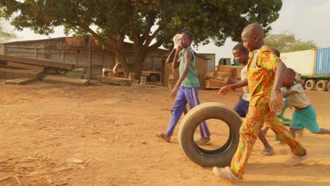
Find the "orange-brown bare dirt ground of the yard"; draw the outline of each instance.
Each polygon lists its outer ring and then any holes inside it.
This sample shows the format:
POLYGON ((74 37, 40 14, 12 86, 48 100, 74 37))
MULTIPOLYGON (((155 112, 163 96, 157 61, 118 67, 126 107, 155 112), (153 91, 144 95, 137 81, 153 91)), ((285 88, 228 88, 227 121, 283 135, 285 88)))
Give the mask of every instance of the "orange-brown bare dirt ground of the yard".
MULTIPOLYGON (((0 185, 231 185, 183 154, 178 126, 171 143, 155 137, 169 123, 169 89, 0 85, 0 185)), ((200 99, 233 106, 239 93, 202 90, 200 99)), ((319 125, 330 128, 330 92, 306 93, 319 125)), ((291 168, 283 164, 290 149, 272 132, 267 139, 276 154, 260 156, 257 141, 236 185, 330 185, 329 135, 305 131, 298 140, 310 159, 291 168)))

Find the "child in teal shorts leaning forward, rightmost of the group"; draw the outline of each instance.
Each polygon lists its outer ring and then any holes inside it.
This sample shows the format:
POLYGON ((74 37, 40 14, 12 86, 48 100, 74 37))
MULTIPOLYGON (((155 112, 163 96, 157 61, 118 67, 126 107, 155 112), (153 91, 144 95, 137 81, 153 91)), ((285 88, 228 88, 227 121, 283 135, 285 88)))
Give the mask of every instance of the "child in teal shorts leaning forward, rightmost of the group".
POLYGON ((289 106, 295 108, 290 124, 293 137, 295 137, 295 132, 302 128, 306 128, 314 134, 330 135, 330 130, 319 128, 315 109, 310 104, 310 100, 307 99, 300 83, 295 82, 295 75, 295 70, 287 68, 286 76, 282 82, 282 86, 286 87, 286 89, 283 89, 283 97, 287 97, 289 106))

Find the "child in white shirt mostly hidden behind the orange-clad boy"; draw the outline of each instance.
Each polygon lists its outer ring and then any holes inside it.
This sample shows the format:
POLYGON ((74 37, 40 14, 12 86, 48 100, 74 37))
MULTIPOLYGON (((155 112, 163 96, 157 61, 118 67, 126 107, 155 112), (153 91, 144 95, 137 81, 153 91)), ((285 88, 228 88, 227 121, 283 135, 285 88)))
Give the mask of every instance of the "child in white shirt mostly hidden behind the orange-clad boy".
MULTIPOLYGON (((243 43, 239 43, 233 47, 233 56, 235 57, 238 63, 244 65, 243 69, 240 71, 240 79, 245 80, 247 78, 247 61, 249 60, 249 51, 247 51, 247 49, 244 48, 243 43)), ((228 80, 228 82, 234 83, 235 80, 228 80)), ((228 85, 228 87, 231 86, 235 86, 235 85, 228 85)), ((250 105, 250 99, 251 99, 251 94, 249 92, 249 87, 245 86, 243 87, 242 97, 240 97, 240 100, 233 108, 242 118, 245 118, 245 116, 247 115, 250 105)), ((264 133, 261 130, 258 134, 258 137, 262 142, 262 144, 264 144, 264 151, 262 151, 262 154, 264 156, 271 156, 272 154, 274 154, 274 149, 271 147, 266 137, 264 137, 264 133)))

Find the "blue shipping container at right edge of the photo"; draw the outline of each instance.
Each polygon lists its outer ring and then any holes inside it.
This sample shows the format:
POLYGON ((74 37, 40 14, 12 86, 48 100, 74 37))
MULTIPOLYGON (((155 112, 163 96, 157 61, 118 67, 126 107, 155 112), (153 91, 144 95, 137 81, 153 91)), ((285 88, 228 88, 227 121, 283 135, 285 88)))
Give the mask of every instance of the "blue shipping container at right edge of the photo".
POLYGON ((317 50, 315 74, 330 75, 330 48, 317 50))

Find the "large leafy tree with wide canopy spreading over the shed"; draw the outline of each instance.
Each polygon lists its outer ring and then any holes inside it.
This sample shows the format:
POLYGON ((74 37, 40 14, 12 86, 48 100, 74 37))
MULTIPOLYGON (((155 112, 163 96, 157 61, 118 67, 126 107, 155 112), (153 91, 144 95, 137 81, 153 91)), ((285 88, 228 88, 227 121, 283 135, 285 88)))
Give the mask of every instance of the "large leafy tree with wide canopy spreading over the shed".
POLYGON ((140 77, 148 52, 163 45, 171 47, 171 38, 190 30, 194 44, 216 46, 226 38, 240 40, 248 23, 260 23, 265 31, 279 18, 281 0, 0 0, 7 18, 18 30, 30 27, 48 35, 54 27, 66 26, 75 35, 93 35, 104 49, 111 51, 128 73, 124 39, 135 49, 135 77, 140 77), (97 30, 92 30, 92 27, 97 30))

